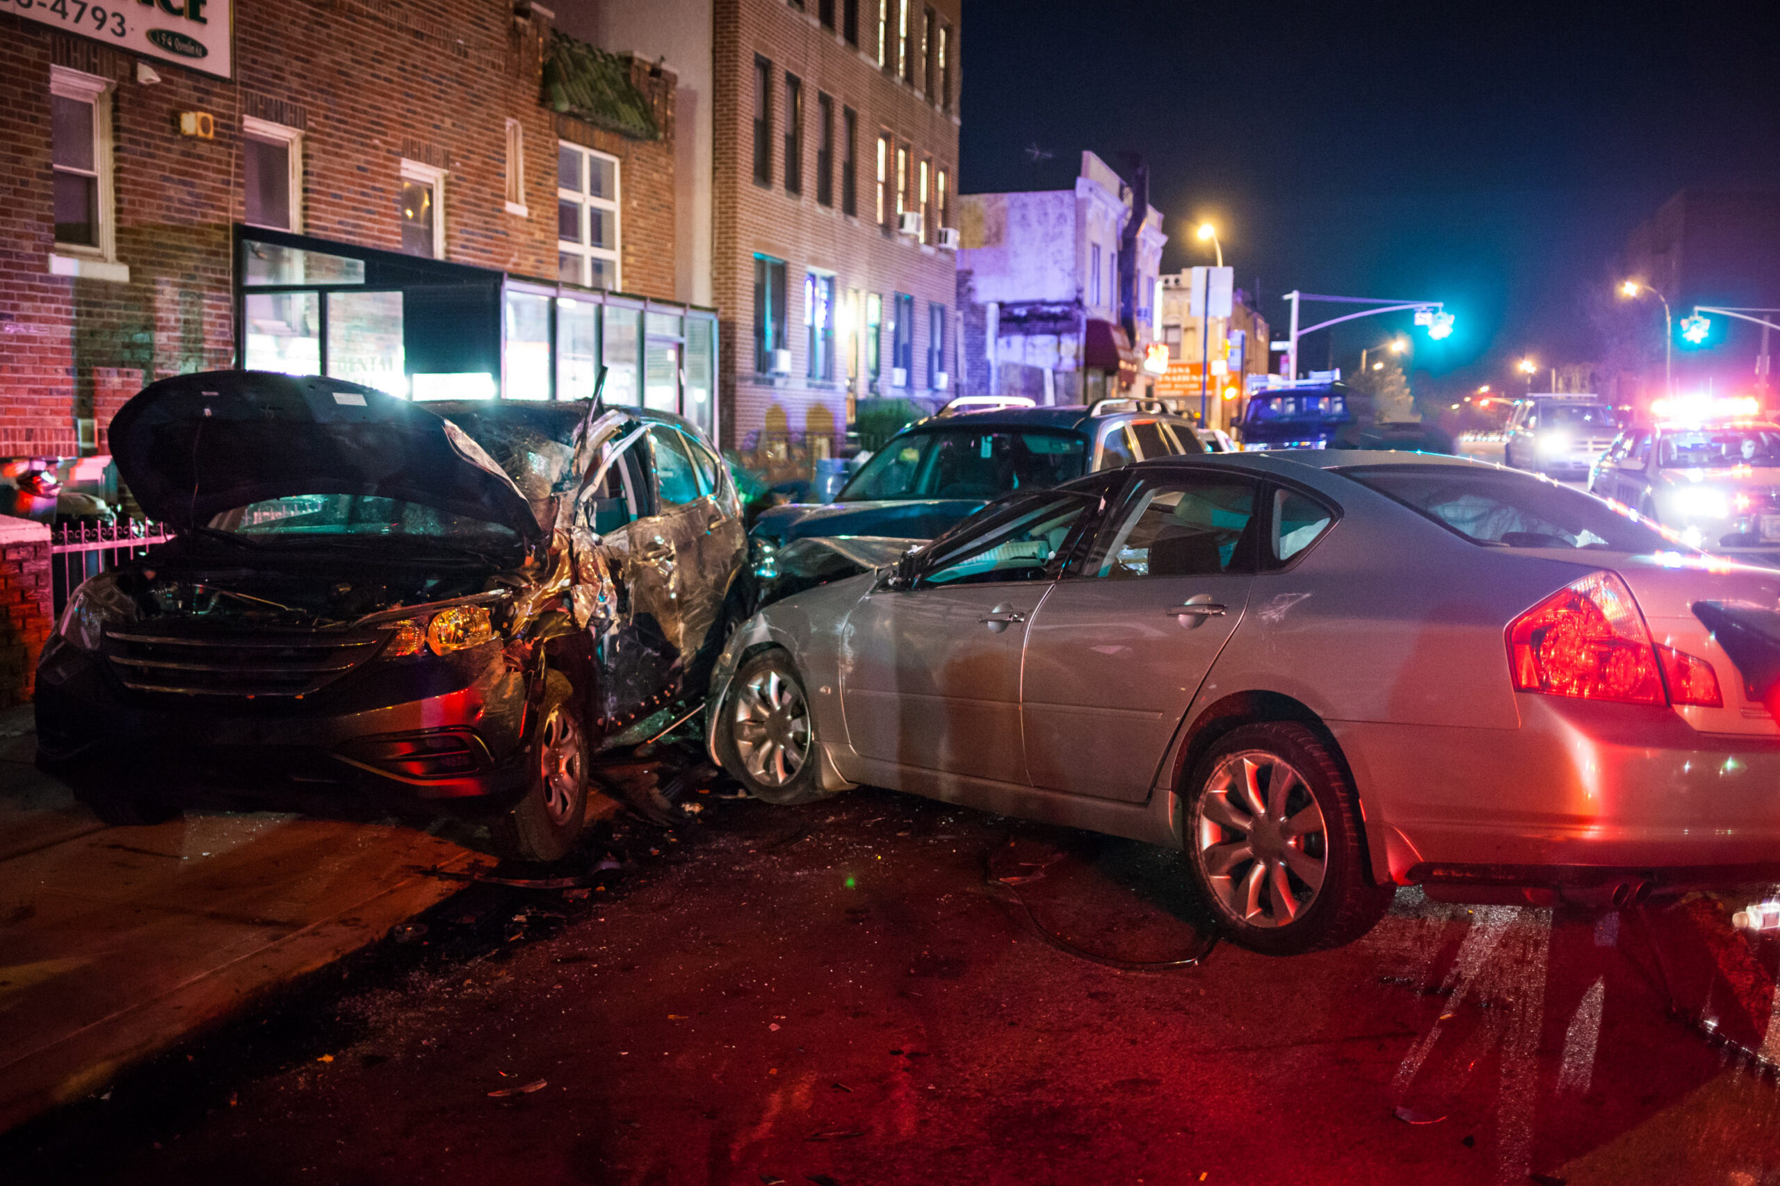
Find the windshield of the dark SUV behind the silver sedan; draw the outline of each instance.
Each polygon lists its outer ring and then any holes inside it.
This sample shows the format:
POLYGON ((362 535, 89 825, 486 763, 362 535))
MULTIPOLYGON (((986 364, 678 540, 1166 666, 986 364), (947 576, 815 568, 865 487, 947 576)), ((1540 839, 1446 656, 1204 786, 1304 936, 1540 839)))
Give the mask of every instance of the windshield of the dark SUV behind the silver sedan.
POLYGON ((942 429, 894 437, 835 496, 837 503, 1000 498, 1082 477, 1088 441, 1066 432, 942 429))

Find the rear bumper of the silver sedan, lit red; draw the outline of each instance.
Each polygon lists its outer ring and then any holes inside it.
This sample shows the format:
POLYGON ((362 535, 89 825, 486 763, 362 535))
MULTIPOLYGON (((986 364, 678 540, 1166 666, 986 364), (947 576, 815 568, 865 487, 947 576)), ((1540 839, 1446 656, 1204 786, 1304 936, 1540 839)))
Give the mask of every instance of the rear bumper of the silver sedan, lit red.
POLYGON ((1330 722, 1396 882, 1780 877, 1780 740, 1524 693, 1520 729, 1330 722))

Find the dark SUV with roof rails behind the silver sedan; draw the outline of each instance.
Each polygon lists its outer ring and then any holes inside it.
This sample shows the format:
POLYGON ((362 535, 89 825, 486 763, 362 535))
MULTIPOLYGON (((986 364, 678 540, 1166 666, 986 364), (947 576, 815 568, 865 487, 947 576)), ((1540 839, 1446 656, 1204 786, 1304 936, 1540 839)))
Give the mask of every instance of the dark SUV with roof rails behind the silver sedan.
POLYGON ((751 539, 762 597, 895 560, 1013 491, 1202 452, 1191 421, 1141 411, 1132 400, 922 420, 890 437, 831 503, 787 503, 760 514, 751 539))

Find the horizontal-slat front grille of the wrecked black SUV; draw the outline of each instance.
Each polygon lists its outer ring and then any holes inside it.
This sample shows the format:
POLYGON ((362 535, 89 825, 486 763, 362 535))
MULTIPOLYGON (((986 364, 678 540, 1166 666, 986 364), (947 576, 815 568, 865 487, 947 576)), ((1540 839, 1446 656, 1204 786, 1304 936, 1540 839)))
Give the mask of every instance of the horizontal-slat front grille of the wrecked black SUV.
POLYGON ((105 631, 105 660, 132 692, 174 695, 288 695, 320 692, 370 656, 384 633, 105 631))

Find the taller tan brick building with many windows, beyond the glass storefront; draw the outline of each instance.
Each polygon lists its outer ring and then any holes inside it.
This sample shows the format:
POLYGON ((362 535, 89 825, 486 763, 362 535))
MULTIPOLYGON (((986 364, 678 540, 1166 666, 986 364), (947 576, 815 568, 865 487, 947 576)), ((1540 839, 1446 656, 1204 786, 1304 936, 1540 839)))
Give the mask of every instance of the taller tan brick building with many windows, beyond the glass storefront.
POLYGON ((951 395, 958 30, 959 0, 714 0, 719 388, 751 464, 951 395))

